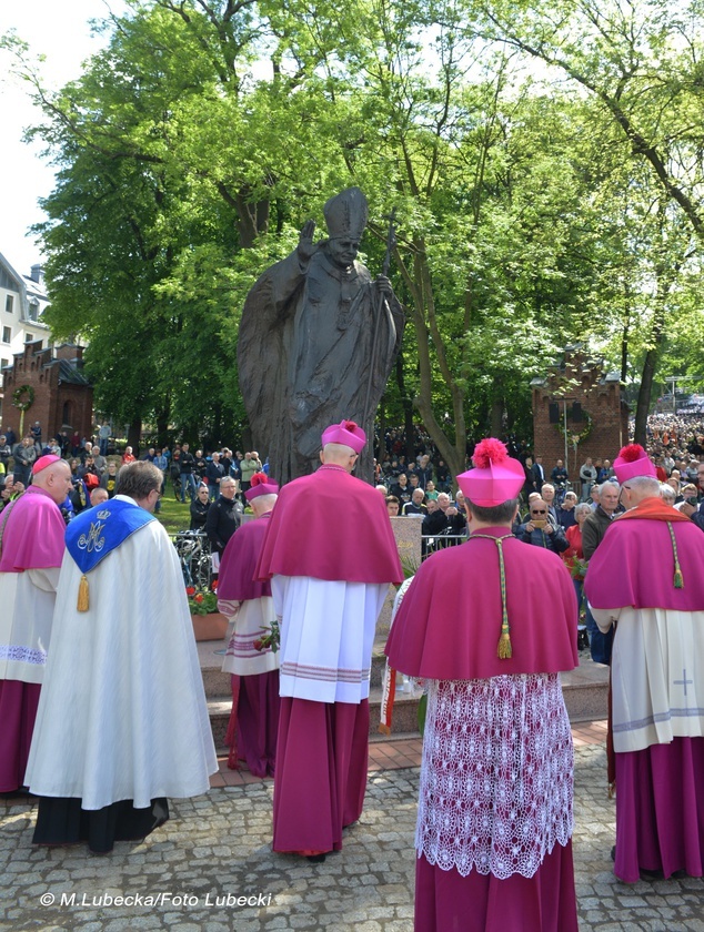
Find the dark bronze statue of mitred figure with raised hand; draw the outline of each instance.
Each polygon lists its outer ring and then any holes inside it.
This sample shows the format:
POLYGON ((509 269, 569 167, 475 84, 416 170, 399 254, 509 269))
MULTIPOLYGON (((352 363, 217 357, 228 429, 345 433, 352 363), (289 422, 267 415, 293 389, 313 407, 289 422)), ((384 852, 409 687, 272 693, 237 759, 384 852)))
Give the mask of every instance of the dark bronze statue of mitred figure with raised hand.
POLYGON ((364 194, 349 188, 323 213, 328 239, 314 243, 309 220, 291 255, 259 277, 240 323, 240 388, 254 445, 280 483, 315 469, 323 429, 343 418, 366 432, 356 474, 372 480, 374 415, 403 333, 388 266, 373 281, 355 261, 364 194))

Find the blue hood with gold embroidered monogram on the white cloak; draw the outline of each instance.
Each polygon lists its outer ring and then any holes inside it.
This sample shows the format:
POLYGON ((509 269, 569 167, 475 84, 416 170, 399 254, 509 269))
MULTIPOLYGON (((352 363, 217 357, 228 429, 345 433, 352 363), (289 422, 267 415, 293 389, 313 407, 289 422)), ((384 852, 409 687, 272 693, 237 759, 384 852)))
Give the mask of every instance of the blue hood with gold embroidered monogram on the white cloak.
POLYGON ((84 575, 135 530, 153 520, 157 520, 154 516, 139 505, 112 498, 73 518, 66 529, 66 546, 84 575))

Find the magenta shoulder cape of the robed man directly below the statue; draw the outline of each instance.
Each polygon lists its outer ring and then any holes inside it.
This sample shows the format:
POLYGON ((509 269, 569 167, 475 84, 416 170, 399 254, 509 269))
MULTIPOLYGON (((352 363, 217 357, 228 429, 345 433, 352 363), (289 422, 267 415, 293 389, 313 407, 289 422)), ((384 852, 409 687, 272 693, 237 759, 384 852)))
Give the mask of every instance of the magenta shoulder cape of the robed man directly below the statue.
POLYGON ((321 466, 285 485, 257 567, 259 579, 274 574, 400 582, 403 571, 383 496, 341 466, 321 466))

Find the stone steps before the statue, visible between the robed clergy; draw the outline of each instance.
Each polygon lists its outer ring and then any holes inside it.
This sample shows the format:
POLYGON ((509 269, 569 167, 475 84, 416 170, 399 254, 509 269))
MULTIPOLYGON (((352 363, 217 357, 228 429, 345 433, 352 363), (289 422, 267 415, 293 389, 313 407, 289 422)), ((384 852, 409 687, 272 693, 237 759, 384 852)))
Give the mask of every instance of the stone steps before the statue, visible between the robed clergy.
MULTIPOLYGON (((224 737, 230 720, 232 698, 230 692, 230 675, 220 669, 224 654, 223 641, 199 641, 198 652, 203 673, 203 683, 208 699, 208 710, 213 730, 215 747, 224 747, 224 737)), ((370 683, 370 738, 384 740, 386 736, 379 733, 379 716, 381 709, 381 678, 385 658, 375 645, 372 657, 370 683)), ((589 651, 580 655, 580 666, 575 670, 562 673, 562 689, 565 706, 572 722, 595 721, 605 719, 607 715, 609 668, 594 663, 589 651)), ((393 725, 390 737, 400 735, 418 735, 418 703, 419 696, 399 691, 393 708, 393 725)))

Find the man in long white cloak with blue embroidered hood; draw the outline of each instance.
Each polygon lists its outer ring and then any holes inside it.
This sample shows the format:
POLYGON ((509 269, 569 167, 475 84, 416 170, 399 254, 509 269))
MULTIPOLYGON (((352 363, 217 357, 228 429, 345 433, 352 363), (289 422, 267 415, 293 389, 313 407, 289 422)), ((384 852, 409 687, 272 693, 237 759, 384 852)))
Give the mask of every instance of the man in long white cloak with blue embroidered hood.
POLYGON ((181 567, 151 514, 160 488, 153 464, 123 466, 115 497, 67 529, 27 768, 36 844, 141 839, 167 797, 207 792, 218 769, 181 567))

